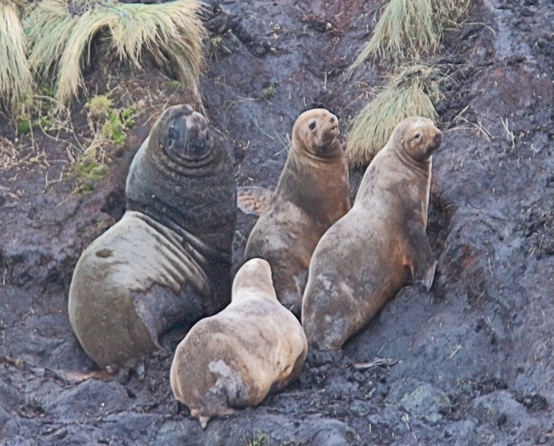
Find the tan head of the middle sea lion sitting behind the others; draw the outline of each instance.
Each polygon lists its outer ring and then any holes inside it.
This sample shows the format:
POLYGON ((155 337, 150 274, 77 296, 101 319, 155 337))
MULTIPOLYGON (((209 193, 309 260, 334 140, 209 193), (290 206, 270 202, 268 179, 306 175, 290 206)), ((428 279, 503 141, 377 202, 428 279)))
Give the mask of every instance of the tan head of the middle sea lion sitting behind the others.
POLYGON ((341 149, 338 134, 337 117, 325 108, 312 108, 295 122, 292 145, 316 156, 334 156, 341 149))

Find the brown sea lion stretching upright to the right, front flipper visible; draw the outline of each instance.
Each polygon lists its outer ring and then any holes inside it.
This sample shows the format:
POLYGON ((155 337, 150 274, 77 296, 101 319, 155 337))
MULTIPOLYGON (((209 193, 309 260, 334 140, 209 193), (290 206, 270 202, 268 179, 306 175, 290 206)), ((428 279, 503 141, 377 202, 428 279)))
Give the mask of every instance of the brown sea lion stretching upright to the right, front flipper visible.
POLYGON ((340 349, 410 277, 430 288, 437 262, 427 209, 441 141, 430 119, 401 121, 367 167, 352 209, 321 237, 302 302, 310 346, 340 349))

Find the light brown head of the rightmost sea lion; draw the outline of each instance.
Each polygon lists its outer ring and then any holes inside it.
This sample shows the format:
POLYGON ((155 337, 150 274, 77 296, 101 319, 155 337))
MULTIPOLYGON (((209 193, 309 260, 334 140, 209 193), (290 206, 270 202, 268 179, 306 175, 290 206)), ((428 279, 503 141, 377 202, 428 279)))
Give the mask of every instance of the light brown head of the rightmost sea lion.
POLYGON ((396 126, 395 147, 417 162, 425 162, 437 152, 442 142, 442 132, 430 119, 412 116, 396 126))

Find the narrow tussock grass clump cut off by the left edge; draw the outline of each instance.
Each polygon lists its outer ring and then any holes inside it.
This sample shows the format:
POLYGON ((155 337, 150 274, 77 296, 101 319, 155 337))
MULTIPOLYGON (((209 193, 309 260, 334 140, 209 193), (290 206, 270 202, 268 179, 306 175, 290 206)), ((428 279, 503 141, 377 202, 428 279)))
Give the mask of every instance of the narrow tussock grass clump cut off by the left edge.
POLYGON ((16 3, 0 0, 0 104, 9 113, 32 95, 33 78, 16 3))

